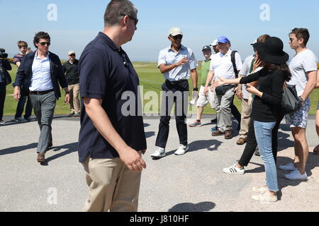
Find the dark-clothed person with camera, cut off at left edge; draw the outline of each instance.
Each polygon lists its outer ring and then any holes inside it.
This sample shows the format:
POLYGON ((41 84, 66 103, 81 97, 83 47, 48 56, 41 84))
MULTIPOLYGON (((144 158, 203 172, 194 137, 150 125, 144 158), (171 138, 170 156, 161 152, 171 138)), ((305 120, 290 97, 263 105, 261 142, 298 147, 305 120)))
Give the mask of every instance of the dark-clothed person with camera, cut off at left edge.
POLYGON ((6 99, 6 85, 11 83, 11 77, 8 71, 10 71, 11 65, 6 59, 7 54, 4 53, 4 49, 0 51, 0 124, 5 124, 6 121, 2 120, 4 116, 4 100, 6 99))

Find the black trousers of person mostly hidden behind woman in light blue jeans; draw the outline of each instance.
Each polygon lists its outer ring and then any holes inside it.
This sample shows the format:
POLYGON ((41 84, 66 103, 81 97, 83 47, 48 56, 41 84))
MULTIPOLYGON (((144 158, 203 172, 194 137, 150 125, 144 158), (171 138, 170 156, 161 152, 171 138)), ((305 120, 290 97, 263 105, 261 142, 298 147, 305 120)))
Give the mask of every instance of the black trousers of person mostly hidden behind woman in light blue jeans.
MULTIPOLYGON (((279 115, 279 118, 276 121, 274 129, 272 129, 272 154, 274 155, 274 160, 277 160, 277 148, 278 148, 278 129, 280 126, 281 120, 284 119, 284 114, 279 115)), ((250 126, 247 134, 247 143, 245 150, 242 153, 242 157, 238 162, 239 165, 247 166, 250 162, 252 155, 254 155, 254 150, 257 148, 256 136, 254 135, 254 120, 250 120, 250 126)))

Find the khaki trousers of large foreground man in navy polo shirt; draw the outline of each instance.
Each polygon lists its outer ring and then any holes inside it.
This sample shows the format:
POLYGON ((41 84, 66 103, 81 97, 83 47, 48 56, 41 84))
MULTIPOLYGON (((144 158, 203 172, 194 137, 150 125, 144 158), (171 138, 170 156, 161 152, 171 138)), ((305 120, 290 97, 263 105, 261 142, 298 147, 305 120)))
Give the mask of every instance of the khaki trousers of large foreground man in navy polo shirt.
POLYGON ((86 212, 137 212, 141 173, 128 169, 119 157, 83 162, 89 195, 86 212))

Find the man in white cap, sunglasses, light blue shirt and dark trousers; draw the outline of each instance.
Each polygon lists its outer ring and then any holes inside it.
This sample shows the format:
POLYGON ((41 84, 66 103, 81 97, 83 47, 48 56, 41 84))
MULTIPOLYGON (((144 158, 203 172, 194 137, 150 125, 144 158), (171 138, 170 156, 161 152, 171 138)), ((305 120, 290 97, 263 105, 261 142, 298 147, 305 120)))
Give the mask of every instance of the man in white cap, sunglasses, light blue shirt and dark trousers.
POLYGON ((189 82, 191 77, 195 95, 198 95, 197 72, 198 66, 194 53, 181 44, 183 33, 180 28, 169 30, 168 40, 171 45, 159 52, 158 67, 164 74, 165 82, 162 85, 162 105, 159 123, 159 132, 155 146, 157 150, 151 155, 153 158, 164 157, 165 147, 169 136, 169 120, 175 102, 175 119, 179 133, 179 148, 175 155, 184 155, 189 149, 187 143, 186 113, 189 102, 189 82), (191 73, 189 73, 191 71, 191 73))

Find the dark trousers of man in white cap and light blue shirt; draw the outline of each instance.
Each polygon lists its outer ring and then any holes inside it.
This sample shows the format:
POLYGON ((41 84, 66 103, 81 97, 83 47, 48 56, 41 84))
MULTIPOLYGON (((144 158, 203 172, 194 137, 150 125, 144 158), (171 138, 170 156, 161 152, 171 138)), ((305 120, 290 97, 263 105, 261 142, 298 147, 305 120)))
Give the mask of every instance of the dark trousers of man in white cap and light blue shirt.
POLYGON ((181 81, 177 84, 165 81, 162 85, 161 117, 159 121, 159 131, 157 133, 155 146, 165 148, 169 136, 169 120, 172 107, 175 104, 175 120, 179 143, 187 145, 187 124, 186 114, 189 104, 189 82, 181 81))

